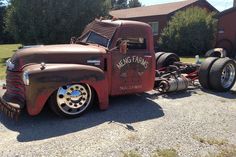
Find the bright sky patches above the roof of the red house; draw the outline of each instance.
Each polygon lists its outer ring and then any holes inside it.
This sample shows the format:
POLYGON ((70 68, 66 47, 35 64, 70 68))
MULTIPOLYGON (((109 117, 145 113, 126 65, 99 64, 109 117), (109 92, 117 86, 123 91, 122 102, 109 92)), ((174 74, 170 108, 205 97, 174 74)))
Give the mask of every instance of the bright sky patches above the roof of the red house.
MULTIPOLYGON (((170 2, 178 2, 181 0, 139 0, 143 5, 154 5, 161 3, 170 3, 170 2)), ((213 5, 219 11, 223 11, 225 9, 231 8, 233 6, 233 0, 208 0, 211 5, 213 5)))

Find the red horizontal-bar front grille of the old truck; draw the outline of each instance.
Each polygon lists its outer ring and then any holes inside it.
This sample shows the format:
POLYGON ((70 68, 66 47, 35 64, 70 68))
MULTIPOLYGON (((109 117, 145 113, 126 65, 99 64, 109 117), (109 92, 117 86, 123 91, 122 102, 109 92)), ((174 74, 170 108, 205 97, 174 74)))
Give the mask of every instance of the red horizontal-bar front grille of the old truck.
POLYGON ((6 95, 25 102, 25 87, 22 81, 22 73, 7 71, 6 95))

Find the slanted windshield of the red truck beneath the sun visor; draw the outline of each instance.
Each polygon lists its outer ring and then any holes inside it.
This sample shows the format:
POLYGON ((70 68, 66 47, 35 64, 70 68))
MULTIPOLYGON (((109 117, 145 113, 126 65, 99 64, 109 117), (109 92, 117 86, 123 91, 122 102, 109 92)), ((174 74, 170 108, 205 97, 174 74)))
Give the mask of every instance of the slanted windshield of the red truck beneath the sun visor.
POLYGON ((82 39, 80 40, 85 43, 92 43, 92 44, 98 44, 104 47, 108 47, 109 39, 96 33, 96 32, 88 32, 82 39))

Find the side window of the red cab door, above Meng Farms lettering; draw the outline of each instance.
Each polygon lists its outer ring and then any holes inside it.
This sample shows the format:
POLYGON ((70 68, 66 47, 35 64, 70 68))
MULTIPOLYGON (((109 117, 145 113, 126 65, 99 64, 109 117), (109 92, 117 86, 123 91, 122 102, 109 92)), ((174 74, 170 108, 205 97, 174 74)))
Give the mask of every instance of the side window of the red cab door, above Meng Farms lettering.
POLYGON ((126 38, 126 39, 118 39, 117 46, 121 43, 121 41, 127 42, 128 50, 143 50, 147 49, 146 39, 145 38, 126 38))

